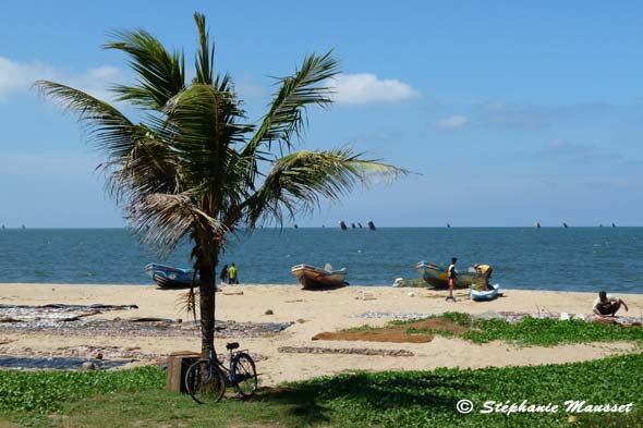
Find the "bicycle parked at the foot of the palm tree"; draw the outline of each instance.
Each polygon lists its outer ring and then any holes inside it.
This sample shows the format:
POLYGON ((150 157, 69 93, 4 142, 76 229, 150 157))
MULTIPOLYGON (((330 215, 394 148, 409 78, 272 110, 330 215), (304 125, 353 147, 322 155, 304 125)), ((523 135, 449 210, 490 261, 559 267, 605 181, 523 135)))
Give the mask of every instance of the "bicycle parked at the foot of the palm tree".
POLYGON ((232 386, 244 399, 257 390, 257 371, 255 362, 247 351, 236 351, 239 342, 227 343, 230 352, 229 368, 225 367, 217 353, 210 348, 207 358, 193 363, 185 375, 185 389, 192 399, 205 404, 218 403, 226 393, 227 386, 232 386))

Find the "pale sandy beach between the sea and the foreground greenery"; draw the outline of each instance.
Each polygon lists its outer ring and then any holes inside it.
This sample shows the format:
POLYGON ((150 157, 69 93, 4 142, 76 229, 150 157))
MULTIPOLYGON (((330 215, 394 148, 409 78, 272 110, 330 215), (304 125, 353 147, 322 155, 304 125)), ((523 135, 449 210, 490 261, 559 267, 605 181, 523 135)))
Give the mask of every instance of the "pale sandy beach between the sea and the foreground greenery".
MULTIPOLYGON (((68 285, 68 284, 0 284, 0 305, 47 304, 105 304, 136 305, 137 309, 109 310, 86 317, 101 319, 163 318, 183 322, 182 329, 165 332, 147 330, 128 334, 92 331, 89 334, 58 330, 22 331, 0 322, 0 355, 80 356, 100 352, 110 355, 130 355, 143 364, 161 360, 177 351, 198 351, 197 330, 191 316, 182 309, 181 296, 185 290, 159 290, 141 285, 68 285), (186 330, 186 328, 189 328, 186 330), (180 332, 180 333, 179 333, 180 332), (80 351, 78 351, 80 350, 80 351), (111 350, 111 351, 110 351, 111 350), (85 355, 83 355, 85 353, 85 355), (110 354, 111 353, 111 354, 110 354)), ((464 291, 457 294, 464 296, 464 291)), ((425 289, 390 286, 348 286, 332 291, 304 291, 299 285, 226 285, 217 293, 217 319, 235 322, 290 323, 284 330, 264 337, 229 337, 223 342, 239 341, 259 356, 257 371, 262 384, 300 380, 357 369, 364 370, 426 370, 436 367, 478 368, 486 366, 539 365, 578 362, 636 351, 632 343, 592 343, 555 347, 518 347, 494 342, 484 345, 460 339, 435 337, 428 343, 385 343, 365 341, 313 341, 320 332, 337 331, 363 325, 381 326, 390 316, 405 314, 440 314, 462 311, 519 311, 590 314, 593 293, 505 290, 504 296, 487 303, 461 298, 447 303, 445 292, 425 289), (372 299, 361 299, 362 292, 372 293, 372 299), (410 296, 409 293, 414 296, 410 296), (271 310, 271 315, 266 311, 271 310), (373 353, 398 352, 398 356, 284 353, 284 347, 365 348, 373 353), (402 352, 403 351, 403 352, 402 352), (405 352, 405 353, 404 353, 405 352), (412 353, 412 356, 408 356, 412 353), (407 355, 407 356, 403 356, 407 355)), ((643 295, 621 294, 629 307, 627 315, 640 317, 643 295)))

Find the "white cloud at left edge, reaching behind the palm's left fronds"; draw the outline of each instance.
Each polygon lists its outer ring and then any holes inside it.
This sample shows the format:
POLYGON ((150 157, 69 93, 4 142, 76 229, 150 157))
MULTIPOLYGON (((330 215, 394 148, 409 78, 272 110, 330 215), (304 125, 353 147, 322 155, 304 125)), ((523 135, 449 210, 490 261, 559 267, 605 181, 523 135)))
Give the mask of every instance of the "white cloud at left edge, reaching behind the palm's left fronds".
POLYGON ((0 57, 0 101, 27 93, 34 82, 40 80, 60 82, 99 99, 109 100, 107 85, 123 77, 124 73, 113 66, 99 66, 82 74, 73 74, 37 61, 17 62, 0 57))

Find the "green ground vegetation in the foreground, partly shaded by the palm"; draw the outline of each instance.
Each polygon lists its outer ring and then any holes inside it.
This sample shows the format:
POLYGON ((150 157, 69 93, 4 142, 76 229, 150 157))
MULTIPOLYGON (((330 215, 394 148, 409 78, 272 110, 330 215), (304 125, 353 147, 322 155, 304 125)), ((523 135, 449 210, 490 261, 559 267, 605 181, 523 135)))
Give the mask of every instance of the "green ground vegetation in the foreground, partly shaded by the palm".
POLYGON ((478 370, 357 372, 265 389, 214 406, 165 391, 165 372, 0 371, 0 425, 31 427, 639 427, 643 354, 595 362, 478 370), (21 399, 21 396, 23 399, 21 399), (28 399, 27 399, 28 398, 28 399), (456 411, 461 399, 475 409, 456 411), (633 403, 628 414, 481 414, 486 401, 563 406, 633 403), (24 401, 29 405, 25 406, 24 401), (53 413, 56 411, 56 413, 53 413), (7 424, 4 424, 7 423, 7 424))

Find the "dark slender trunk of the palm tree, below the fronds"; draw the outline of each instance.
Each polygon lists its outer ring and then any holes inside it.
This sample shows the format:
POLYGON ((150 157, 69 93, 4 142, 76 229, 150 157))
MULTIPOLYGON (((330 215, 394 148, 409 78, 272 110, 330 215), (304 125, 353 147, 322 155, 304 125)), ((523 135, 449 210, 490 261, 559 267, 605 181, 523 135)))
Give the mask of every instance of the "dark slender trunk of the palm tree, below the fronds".
POLYGON ((218 246, 204 248, 198 261, 201 273, 201 355, 203 358, 207 358, 208 351, 214 350, 215 346, 216 269, 218 257, 218 246))

